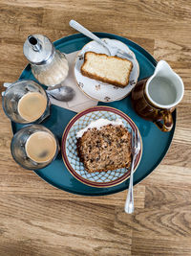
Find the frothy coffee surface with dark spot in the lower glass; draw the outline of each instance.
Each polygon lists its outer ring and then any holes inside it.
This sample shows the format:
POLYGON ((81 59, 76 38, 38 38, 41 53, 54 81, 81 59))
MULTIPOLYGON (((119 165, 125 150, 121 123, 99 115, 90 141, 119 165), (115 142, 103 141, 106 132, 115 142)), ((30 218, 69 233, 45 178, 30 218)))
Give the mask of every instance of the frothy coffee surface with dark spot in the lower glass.
POLYGON ((56 152, 56 141, 46 131, 37 131, 27 140, 25 145, 27 155, 37 163, 48 162, 56 152))

